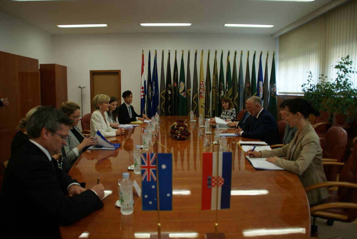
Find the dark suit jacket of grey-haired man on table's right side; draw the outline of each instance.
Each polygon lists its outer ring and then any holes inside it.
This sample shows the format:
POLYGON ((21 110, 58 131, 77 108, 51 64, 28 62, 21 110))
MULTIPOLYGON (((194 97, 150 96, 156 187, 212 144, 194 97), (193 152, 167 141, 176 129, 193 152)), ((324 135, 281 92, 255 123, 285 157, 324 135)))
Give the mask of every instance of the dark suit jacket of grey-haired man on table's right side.
POLYGON ((278 124, 269 111, 263 109, 259 117, 252 117, 248 125, 241 127, 243 137, 265 141, 268 145, 280 143, 278 124))

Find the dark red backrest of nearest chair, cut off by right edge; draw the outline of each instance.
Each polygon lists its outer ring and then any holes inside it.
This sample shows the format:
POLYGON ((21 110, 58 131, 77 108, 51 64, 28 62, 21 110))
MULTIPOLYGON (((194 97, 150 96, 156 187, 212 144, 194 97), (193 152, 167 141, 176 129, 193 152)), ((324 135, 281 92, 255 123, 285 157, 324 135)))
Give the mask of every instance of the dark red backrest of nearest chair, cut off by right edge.
MULTIPOLYGON (((357 183, 357 145, 353 147, 352 153, 345 165, 343 165, 339 181, 357 183)), ((347 203, 357 203, 357 189, 351 187, 338 187, 337 191, 340 201, 347 203)), ((354 221, 357 218, 356 209, 345 209, 348 215, 348 221, 354 221)))

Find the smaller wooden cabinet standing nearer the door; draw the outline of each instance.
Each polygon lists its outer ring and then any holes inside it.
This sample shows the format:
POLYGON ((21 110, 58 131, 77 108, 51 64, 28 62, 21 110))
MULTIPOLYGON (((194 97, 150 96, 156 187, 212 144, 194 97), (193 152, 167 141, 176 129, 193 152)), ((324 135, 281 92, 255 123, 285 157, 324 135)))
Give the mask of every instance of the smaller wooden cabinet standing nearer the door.
POLYGON ((60 107, 67 101, 67 67, 40 64, 41 105, 60 107))

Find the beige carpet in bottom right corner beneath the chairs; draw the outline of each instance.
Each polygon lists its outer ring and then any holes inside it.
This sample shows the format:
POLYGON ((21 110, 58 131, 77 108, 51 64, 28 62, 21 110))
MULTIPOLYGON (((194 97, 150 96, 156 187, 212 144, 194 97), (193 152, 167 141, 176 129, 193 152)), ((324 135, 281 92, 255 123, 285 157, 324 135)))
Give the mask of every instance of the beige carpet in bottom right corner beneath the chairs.
POLYGON ((319 238, 342 236, 343 239, 357 239, 357 220, 353 223, 335 221, 333 226, 328 226, 325 219, 317 218, 316 224, 318 225, 319 238))

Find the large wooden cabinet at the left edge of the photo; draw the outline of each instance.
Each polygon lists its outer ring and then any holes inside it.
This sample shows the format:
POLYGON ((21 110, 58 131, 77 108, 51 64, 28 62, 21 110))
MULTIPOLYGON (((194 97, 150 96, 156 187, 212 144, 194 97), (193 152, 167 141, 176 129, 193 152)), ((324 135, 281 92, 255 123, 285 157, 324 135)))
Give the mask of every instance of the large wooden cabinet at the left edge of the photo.
POLYGON ((29 109, 40 105, 39 60, 0 52, 0 98, 9 106, 0 108, 0 161, 10 158, 17 125, 29 109))

